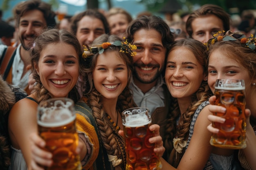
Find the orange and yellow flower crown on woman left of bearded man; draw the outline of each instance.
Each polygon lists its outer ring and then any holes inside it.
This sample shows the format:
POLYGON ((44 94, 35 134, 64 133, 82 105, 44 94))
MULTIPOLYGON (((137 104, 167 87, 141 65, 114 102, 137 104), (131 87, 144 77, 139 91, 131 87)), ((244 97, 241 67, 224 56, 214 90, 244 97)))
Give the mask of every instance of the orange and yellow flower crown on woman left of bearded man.
MULTIPOLYGON (((125 39, 125 38, 124 38, 125 39)), ((115 40, 114 42, 103 42, 102 44, 92 44, 92 47, 89 47, 88 45, 83 45, 84 52, 83 52, 83 58, 86 60, 89 56, 92 56, 96 53, 102 54, 105 49, 107 49, 110 46, 119 46, 121 53, 127 53, 131 57, 136 55, 136 52, 133 52, 132 50, 136 50, 137 46, 132 45, 128 42, 128 40, 121 42, 119 40, 115 40)))

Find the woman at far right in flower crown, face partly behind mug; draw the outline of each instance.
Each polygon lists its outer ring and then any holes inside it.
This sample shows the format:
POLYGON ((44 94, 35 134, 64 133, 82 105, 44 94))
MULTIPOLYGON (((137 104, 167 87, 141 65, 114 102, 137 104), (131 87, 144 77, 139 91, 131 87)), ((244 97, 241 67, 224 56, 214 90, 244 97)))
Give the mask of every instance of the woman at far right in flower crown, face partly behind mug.
MULTIPOLYGON (((216 79, 244 79, 247 117, 247 147, 239 150, 238 159, 246 170, 256 170, 256 38, 246 38, 242 33, 227 31, 224 36, 209 40, 208 47, 208 84, 214 91, 216 79), (250 111, 251 110, 251 111, 250 111), (251 113, 252 112, 252 113, 251 113)), ((212 113, 225 113, 225 108, 214 105, 216 97, 209 99, 209 110, 212 113)), ((208 116, 210 121, 224 123, 225 119, 214 115, 208 116)), ((218 133, 211 124, 207 127, 218 133)))

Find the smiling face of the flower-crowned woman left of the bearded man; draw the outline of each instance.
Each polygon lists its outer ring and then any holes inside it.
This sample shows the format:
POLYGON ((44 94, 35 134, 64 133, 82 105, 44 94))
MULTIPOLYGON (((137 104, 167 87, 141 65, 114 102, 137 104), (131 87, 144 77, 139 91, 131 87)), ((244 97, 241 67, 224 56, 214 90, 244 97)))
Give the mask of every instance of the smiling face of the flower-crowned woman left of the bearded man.
POLYGON ((128 83, 128 68, 118 53, 106 51, 98 55, 96 66, 92 71, 93 84, 96 90, 105 99, 116 101, 128 83))

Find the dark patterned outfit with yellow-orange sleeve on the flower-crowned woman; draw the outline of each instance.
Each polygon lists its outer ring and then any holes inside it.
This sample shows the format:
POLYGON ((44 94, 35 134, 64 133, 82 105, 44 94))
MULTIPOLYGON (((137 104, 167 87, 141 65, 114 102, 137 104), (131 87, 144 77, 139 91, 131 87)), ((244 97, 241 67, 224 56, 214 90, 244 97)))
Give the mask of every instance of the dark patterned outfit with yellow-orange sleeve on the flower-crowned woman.
MULTIPOLYGON (((84 99, 85 100, 85 99, 84 99)), ((80 131, 80 133, 85 133, 86 136, 92 139, 99 139, 98 143, 92 142, 93 150, 89 160, 86 162, 84 165, 85 170, 114 170, 115 168, 112 166, 111 162, 108 161, 108 154, 106 149, 103 146, 103 140, 101 140, 101 136, 99 135, 99 129, 96 123, 95 118, 92 115, 92 110, 91 108, 85 104, 85 101, 79 101, 76 103, 75 110, 76 110, 76 125, 77 125, 77 130, 80 131), (87 128, 88 126, 85 125, 90 124, 94 129, 91 129, 91 132, 88 133, 87 128), (99 150, 97 152, 97 150, 99 150), (97 156, 95 160, 95 155, 97 156)), ((118 159, 123 160, 122 163, 120 164, 122 170, 126 170, 126 150, 124 146, 124 139, 118 134, 118 131, 120 130, 119 126, 117 126, 110 116, 106 113, 107 117, 107 124, 108 126, 111 127, 113 134, 115 136, 116 142, 117 142, 117 147, 119 150, 119 155, 118 159)), ((97 142, 97 141, 96 141, 97 142)))

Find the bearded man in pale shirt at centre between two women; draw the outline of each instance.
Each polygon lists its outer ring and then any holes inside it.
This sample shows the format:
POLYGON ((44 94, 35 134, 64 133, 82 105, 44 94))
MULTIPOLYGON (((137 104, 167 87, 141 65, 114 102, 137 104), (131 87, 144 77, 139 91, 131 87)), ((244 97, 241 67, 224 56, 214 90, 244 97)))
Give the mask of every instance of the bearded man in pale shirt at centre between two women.
POLYGON ((171 95, 163 79, 168 47, 174 41, 166 22, 157 16, 141 16, 127 29, 128 40, 137 46, 133 57, 133 82, 130 86, 137 106, 150 110, 152 123, 160 134, 171 105, 171 95))

